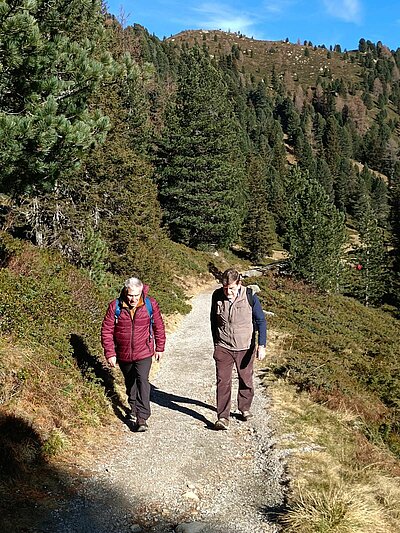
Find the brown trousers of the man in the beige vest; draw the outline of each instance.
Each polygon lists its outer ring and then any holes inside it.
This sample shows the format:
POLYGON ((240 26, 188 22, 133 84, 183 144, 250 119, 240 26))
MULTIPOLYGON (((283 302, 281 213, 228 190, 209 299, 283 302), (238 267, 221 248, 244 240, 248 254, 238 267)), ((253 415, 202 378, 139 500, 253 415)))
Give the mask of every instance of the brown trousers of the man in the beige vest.
POLYGON ((214 360, 217 376, 217 416, 229 418, 232 396, 233 366, 239 378, 237 404, 239 411, 248 411, 254 397, 253 363, 255 357, 254 346, 248 350, 229 350, 222 346, 215 346, 214 360))

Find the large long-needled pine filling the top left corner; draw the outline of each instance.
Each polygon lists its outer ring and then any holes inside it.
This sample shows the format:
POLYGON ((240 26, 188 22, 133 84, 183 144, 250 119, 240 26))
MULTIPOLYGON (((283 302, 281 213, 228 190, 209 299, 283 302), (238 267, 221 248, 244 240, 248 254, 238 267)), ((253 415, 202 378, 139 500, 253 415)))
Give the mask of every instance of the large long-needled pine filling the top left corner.
POLYGON ((49 189, 107 130, 88 105, 112 73, 101 2, 1 2, 0 38, 0 190, 49 189))

